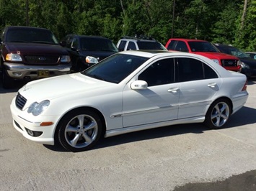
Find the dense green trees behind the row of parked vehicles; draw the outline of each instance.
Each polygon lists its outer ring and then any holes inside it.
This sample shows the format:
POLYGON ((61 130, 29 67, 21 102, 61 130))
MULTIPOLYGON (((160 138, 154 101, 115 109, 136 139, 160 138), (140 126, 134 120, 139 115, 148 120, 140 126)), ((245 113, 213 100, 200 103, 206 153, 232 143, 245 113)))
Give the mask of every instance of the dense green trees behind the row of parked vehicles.
POLYGON ((58 39, 76 33, 100 35, 116 43, 124 35, 144 34, 163 44, 173 29, 173 37, 255 51, 256 1, 247 1, 241 25, 241 0, 0 0, 0 28, 29 22, 32 27, 51 29, 58 39))

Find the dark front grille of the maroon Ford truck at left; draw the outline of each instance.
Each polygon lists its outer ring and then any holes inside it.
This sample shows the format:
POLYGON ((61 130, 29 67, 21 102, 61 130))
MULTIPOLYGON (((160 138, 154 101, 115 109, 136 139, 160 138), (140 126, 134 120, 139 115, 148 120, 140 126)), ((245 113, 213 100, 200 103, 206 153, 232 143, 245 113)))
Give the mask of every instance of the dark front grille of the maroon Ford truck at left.
POLYGON ((25 55, 28 64, 57 64, 58 55, 25 55))

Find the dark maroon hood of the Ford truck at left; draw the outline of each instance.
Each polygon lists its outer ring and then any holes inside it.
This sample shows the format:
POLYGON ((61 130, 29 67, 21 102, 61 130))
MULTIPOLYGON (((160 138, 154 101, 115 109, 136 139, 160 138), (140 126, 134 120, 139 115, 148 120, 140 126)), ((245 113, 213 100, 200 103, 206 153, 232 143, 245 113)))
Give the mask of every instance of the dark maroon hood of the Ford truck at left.
POLYGON ((68 52, 61 47, 61 45, 48 45, 40 43, 18 43, 18 42, 6 42, 6 50, 8 52, 22 52, 22 53, 42 53, 45 54, 62 54, 66 55, 68 52))

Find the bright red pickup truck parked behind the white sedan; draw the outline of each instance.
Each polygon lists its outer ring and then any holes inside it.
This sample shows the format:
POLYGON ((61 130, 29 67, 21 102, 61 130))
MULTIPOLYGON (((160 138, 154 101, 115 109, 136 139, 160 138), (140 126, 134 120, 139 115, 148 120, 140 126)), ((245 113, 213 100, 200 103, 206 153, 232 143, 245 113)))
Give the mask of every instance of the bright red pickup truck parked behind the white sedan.
POLYGON ((237 57, 221 53, 211 42, 200 39, 169 39, 167 50, 190 52, 210 58, 217 64, 235 72, 241 71, 241 62, 237 57))

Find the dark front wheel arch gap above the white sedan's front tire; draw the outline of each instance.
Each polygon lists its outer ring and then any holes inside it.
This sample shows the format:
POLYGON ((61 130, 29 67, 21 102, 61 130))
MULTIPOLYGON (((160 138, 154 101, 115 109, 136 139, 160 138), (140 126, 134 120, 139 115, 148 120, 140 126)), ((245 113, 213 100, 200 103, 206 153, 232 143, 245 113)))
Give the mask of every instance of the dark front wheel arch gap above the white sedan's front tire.
POLYGON ((96 108, 92 108, 92 107, 89 107, 89 106, 81 106, 81 107, 78 107, 78 108, 73 108, 70 111, 67 111, 63 116, 61 116, 61 118, 58 120, 58 124, 56 125, 56 129, 54 130, 54 141, 58 140, 57 139, 57 136, 58 136, 57 129, 58 129, 58 125, 61 123, 62 119, 65 118, 67 115, 69 115, 69 113, 72 113, 72 112, 78 111, 78 110, 88 110, 88 111, 93 111, 94 113, 97 113, 97 115, 100 117, 100 120, 102 121, 102 134, 101 134, 101 136, 105 135, 106 121, 105 121, 105 118, 104 118, 103 114, 99 110, 97 110, 96 108))

